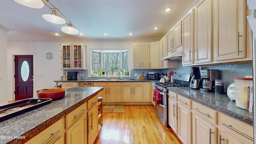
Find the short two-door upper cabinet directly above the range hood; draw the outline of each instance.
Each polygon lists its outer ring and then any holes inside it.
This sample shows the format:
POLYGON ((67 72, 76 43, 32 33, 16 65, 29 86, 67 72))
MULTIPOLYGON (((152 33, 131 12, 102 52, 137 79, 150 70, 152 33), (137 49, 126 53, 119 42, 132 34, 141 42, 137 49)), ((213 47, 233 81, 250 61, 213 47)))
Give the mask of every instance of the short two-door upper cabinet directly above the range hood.
POLYGON ((182 22, 178 21, 167 33, 167 50, 168 55, 171 51, 182 44, 182 22))

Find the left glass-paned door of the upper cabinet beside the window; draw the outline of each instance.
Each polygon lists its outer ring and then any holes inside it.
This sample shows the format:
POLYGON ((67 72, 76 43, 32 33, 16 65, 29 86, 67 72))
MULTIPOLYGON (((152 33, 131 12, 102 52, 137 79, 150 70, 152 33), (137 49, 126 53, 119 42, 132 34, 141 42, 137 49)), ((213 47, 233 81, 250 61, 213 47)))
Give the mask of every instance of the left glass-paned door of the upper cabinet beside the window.
POLYGON ((62 44, 62 69, 72 68, 72 46, 70 44, 62 44))

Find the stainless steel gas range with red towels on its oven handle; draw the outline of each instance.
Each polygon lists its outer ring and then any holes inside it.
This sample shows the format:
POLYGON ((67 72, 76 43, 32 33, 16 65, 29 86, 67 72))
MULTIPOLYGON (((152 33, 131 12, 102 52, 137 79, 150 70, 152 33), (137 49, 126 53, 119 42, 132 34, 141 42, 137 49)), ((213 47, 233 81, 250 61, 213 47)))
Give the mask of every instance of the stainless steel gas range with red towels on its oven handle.
POLYGON ((174 74, 174 82, 157 82, 154 84, 154 92, 159 92, 160 99, 159 104, 155 102, 155 108, 158 118, 164 124, 165 127, 170 128, 168 125, 168 96, 167 87, 182 87, 189 86, 191 80, 191 74, 174 74))

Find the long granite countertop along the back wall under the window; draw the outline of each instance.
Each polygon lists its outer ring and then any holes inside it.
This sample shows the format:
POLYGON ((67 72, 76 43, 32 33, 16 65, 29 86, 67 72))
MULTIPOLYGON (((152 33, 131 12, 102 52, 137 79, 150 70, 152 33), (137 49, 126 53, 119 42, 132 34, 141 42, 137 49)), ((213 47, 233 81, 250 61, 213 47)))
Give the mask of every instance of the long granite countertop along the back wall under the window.
MULTIPOLYGON (((153 80, 155 82, 159 82, 159 80, 153 80)), ((129 79, 109 79, 100 78, 100 79, 91 79, 91 80, 54 80, 54 82, 152 82, 152 80, 129 80, 129 79)))

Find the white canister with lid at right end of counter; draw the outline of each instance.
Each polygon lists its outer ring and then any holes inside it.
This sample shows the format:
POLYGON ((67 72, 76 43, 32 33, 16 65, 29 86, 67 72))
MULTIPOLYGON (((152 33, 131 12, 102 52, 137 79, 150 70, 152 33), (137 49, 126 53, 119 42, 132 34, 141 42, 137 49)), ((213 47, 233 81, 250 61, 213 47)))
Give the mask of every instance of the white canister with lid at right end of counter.
POLYGON ((247 110, 248 86, 250 87, 252 78, 234 78, 236 106, 247 110))

